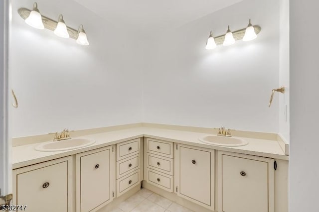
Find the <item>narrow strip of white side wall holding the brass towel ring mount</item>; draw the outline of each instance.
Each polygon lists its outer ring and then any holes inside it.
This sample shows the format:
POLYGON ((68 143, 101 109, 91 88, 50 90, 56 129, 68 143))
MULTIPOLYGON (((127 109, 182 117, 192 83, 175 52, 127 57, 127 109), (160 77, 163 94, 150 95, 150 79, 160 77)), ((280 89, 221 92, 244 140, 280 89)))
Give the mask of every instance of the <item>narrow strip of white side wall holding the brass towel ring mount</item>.
POLYGON ((279 133, 286 142, 290 139, 290 87, 289 87, 289 0, 280 0, 279 84, 285 94, 279 97, 279 133))

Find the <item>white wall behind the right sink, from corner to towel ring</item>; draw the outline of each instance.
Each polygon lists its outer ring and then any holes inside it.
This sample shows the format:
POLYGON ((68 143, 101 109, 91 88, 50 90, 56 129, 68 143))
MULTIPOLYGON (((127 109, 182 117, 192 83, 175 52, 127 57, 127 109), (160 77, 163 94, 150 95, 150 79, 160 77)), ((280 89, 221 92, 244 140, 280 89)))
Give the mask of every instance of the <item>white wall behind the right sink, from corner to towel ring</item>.
POLYGON ((144 121, 250 131, 279 131, 278 0, 244 0, 149 40, 144 121), (257 39, 206 50, 209 31, 262 27, 257 39))

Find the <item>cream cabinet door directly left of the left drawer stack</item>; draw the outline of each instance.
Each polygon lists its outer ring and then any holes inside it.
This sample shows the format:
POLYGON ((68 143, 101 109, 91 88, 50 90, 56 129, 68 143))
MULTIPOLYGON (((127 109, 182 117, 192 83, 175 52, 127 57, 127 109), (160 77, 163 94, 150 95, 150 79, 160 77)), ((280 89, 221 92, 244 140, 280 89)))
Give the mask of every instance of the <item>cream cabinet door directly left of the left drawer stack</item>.
POLYGON ((93 212, 113 200, 114 146, 75 155, 76 212, 93 212))

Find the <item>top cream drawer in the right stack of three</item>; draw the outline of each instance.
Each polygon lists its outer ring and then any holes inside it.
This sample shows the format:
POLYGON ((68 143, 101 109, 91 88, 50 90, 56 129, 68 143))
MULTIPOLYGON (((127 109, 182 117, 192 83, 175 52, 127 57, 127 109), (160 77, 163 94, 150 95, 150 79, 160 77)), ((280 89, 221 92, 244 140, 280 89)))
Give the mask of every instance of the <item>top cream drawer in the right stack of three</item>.
POLYGON ((150 153, 173 158, 173 143, 153 138, 147 138, 147 150, 150 153))

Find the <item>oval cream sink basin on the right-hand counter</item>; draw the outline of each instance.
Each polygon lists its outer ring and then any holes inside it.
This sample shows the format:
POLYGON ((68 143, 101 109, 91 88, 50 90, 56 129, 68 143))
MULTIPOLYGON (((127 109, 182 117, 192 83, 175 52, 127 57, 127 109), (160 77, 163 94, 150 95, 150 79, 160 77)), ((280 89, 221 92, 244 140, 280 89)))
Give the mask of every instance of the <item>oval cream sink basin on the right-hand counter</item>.
POLYGON ((217 145, 217 146, 245 146, 248 144, 248 141, 241 138, 234 137, 222 137, 215 135, 207 135, 199 140, 203 143, 217 145))

